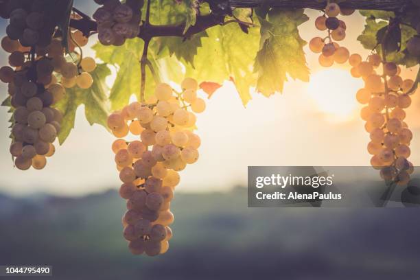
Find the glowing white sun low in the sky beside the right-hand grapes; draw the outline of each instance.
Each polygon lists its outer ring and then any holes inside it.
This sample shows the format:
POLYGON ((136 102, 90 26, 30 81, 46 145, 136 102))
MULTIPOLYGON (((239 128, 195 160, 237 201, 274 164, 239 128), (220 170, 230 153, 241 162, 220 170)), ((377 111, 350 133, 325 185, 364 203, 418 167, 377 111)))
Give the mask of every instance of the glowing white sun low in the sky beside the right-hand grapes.
POLYGON ((363 83, 349 71, 327 69, 314 73, 307 86, 307 93, 316 102, 320 112, 334 120, 350 119, 358 108, 355 94, 363 83))

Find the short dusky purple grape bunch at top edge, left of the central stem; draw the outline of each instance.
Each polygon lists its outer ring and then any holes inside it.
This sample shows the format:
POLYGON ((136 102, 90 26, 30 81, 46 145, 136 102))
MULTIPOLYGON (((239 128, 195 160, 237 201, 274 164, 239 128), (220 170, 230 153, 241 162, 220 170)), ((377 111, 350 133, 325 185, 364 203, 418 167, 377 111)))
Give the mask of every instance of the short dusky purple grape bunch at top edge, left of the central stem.
POLYGON ((102 5, 93 14, 97 23, 97 33, 102 45, 124 45, 126 39, 139 34, 141 6, 143 1, 95 0, 102 5))

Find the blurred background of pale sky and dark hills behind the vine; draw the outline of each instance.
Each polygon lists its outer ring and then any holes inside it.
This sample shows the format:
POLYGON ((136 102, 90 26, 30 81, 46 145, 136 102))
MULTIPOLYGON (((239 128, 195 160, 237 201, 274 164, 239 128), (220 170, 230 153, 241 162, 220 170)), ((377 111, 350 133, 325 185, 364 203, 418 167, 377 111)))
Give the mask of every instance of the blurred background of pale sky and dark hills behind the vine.
MULTIPOLYGON (((93 14, 93 1, 75 0, 93 14)), ((318 12, 308 11, 310 40, 318 12)), ((366 57, 356 38, 364 19, 345 18, 342 42, 366 57)), ((0 35, 7 22, 0 20, 0 35)), ((89 45, 96 42, 95 36, 89 45)), ((86 53, 94 52, 86 48, 86 53)), ((305 47, 310 83, 283 94, 253 94, 247 108, 226 82, 198 115, 200 160, 181 172, 172 203, 170 250, 132 256, 122 237, 114 137, 89 126, 78 109, 75 129, 44 170, 21 172, 9 154, 9 115, 0 108, 0 264, 54 266, 54 279, 419 279, 417 209, 248 209, 248 165, 368 165, 369 135, 348 65, 322 69, 305 47)), ((7 64, 0 52, 0 65, 7 64)), ((417 69, 404 69, 414 78, 417 69)), ((114 75, 115 77, 115 75, 114 75)), ((112 84, 113 77, 108 82, 112 84)), ((0 84, 0 97, 7 95, 0 84)), ((420 100, 407 110, 411 160, 420 163, 420 100)))

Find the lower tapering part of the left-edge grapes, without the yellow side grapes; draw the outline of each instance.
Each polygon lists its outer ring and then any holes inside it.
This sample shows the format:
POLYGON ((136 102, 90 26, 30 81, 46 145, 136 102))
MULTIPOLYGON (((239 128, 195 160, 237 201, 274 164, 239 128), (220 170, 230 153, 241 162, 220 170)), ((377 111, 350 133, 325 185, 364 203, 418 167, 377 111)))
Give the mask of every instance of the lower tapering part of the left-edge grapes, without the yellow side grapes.
POLYGON ((16 157, 14 165, 20 170, 31 166, 40 170, 47 163, 46 156, 52 156, 55 151, 53 142, 60 132, 62 113, 51 105, 64 95, 64 88, 51 83, 54 67, 50 60, 28 59, 18 50, 23 46, 8 37, 1 43, 6 51, 12 51, 9 62, 16 67, 0 68, 0 80, 8 83, 14 108, 10 153, 16 157))

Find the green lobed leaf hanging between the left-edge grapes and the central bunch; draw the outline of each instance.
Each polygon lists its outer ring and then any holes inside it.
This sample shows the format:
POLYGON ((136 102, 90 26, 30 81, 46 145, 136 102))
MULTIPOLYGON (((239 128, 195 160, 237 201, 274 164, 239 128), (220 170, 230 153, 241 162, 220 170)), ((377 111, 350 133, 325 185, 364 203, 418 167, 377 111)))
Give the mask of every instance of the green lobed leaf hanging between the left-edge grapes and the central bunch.
POLYGON ((80 89, 78 86, 66 89, 65 97, 55 105, 63 114, 61 130, 58 133, 60 145, 74 128, 75 113, 82 104, 89 124, 100 124, 106 128, 109 110, 106 96, 108 87, 105 84, 105 78, 110 75, 110 69, 106 64, 99 64, 91 75, 93 84, 89 89, 80 89))

